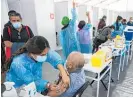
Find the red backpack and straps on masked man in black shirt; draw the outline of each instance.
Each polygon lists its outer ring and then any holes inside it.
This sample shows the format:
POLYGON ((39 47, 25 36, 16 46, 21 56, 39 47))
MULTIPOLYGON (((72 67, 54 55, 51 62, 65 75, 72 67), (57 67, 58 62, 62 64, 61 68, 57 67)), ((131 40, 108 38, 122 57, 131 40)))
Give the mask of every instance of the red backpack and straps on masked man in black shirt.
MULTIPOLYGON (((26 31, 27 31, 27 34, 30 38, 30 32, 29 32, 29 29, 28 29, 28 26, 25 26, 26 28, 26 31)), ((11 41, 11 29, 10 27, 8 26, 8 34, 10 36, 10 41, 11 41)), ((11 48, 10 47, 6 47, 6 60, 10 59, 11 57, 11 48)))

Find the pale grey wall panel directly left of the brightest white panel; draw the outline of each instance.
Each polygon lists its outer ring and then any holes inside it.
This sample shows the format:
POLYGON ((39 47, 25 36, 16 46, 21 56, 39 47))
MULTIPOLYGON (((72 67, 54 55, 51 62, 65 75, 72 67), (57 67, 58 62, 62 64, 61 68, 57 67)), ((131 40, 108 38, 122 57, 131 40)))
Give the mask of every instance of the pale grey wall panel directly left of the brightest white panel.
POLYGON ((30 26, 34 35, 37 35, 36 12, 33 0, 20 0, 23 23, 30 26), (28 7, 27 7, 28 6, 28 7))

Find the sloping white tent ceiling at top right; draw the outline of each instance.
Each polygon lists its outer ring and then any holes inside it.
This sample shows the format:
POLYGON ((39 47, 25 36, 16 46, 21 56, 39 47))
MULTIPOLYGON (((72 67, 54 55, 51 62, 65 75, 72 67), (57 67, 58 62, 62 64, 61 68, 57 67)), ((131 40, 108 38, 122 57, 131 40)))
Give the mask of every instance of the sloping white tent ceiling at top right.
MULTIPOLYGON (((70 0, 54 0, 55 2, 70 1, 70 0)), ((71 0, 72 1, 72 0, 71 0)), ((129 11, 133 12, 133 0, 74 0, 80 4, 88 6, 100 7, 115 11, 129 11)))

